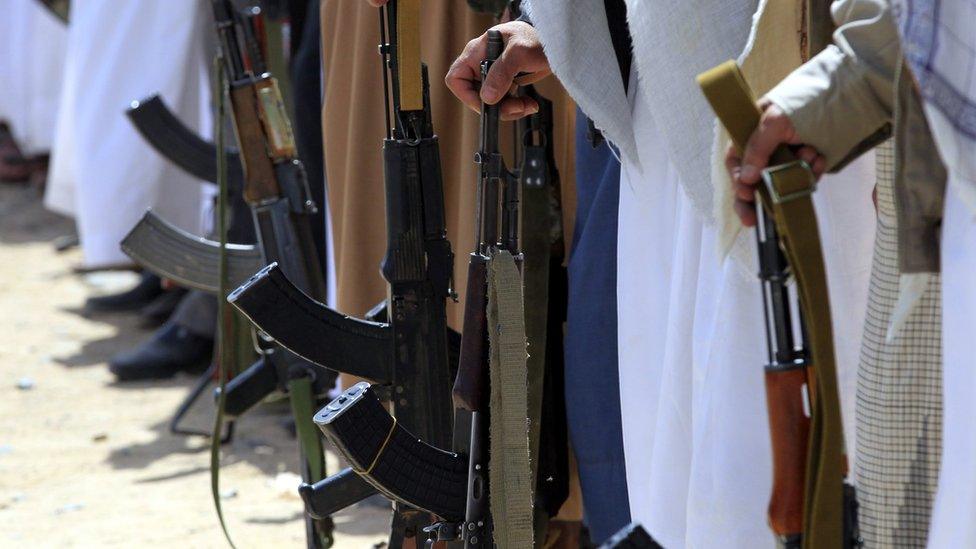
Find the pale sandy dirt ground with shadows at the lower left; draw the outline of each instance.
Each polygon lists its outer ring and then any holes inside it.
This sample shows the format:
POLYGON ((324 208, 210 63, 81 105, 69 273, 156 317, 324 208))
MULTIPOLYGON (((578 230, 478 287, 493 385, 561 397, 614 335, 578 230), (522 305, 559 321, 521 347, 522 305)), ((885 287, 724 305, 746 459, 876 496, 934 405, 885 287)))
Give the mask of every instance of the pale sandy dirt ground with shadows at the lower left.
MULTIPOLYGON (((0 547, 227 547, 209 441, 168 429, 195 378, 113 382, 105 362, 150 330, 134 315, 81 314, 87 296, 134 275, 74 274, 79 252, 51 244, 71 230, 37 190, 0 185, 0 547)), ((207 407, 193 423, 209 424, 207 407)), ((304 547, 283 410, 245 416, 223 450, 222 504, 241 549, 304 547)), ((360 505, 335 520, 336 547, 372 547, 389 512, 360 505)))

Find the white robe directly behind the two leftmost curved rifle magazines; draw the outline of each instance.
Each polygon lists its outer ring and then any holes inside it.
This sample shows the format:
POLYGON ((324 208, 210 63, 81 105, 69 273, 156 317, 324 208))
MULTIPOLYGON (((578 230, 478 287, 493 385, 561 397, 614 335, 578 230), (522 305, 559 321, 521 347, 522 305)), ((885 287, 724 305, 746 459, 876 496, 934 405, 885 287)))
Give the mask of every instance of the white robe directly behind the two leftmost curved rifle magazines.
POLYGON ((87 267, 129 263, 119 241, 147 208, 201 231, 202 185, 157 154, 124 113, 159 93, 187 126, 209 128, 204 8, 198 0, 72 2, 45 204, 75 217, 87 267))

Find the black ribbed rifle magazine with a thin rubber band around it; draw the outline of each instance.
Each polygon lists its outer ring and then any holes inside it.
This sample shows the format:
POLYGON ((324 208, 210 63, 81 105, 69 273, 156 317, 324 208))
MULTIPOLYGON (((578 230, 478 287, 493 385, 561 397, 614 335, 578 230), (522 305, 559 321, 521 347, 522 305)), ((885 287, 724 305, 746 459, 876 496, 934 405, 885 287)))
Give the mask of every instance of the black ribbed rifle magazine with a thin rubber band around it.
POLYGON ((314 420, 353 469, 387 497, 447 521, 464 519, 467 457, 434 448, 398 425, 369 383, 347 389, 314 420))

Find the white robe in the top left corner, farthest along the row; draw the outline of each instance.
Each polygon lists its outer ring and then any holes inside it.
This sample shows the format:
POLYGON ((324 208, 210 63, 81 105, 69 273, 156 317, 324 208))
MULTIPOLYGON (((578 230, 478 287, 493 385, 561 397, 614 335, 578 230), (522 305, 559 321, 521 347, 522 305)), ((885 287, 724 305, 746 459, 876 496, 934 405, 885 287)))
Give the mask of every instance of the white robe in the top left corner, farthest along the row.
POLYGON ((25 154, 51 149, 68 31, 36 0, 6 0, 0 18, 0 119, 25 154))

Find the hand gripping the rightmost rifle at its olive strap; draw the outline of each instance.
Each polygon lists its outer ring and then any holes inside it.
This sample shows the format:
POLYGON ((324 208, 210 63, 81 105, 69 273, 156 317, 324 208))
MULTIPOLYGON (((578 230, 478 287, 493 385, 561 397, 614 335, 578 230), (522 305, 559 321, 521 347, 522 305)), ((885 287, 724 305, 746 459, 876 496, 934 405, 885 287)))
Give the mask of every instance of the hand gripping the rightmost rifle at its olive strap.
MULTIPOLYGON (((780 145, 800 145, 793 122, 782 109, 765 98, 759 100, 759 108, 762 110, 759 127, 749 137, 741 158, 735 146, 729 146, 725 153, 725 168, 732 177, 735 192, 735 213, 746 227, 756 224, 756 184, 769 165, 769 157, 780 145)), ((810 165, 816 177, 823 174, 825 161, 816 149, 803 145, 796 156, 810 165)))

